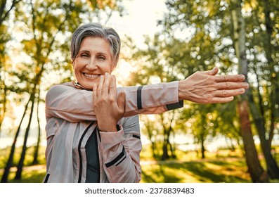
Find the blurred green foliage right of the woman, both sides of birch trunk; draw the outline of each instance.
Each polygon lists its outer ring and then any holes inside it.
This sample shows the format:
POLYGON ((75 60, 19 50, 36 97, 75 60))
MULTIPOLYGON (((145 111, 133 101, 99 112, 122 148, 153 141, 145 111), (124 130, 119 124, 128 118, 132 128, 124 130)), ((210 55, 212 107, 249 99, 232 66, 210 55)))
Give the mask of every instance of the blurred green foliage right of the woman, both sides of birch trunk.
MULTIPOLYGON (((278 132, 278 127, 273 127, 278 122, 278 103, 275 104, 275 101, 279 101, 279 80, 275 81, 275 77, 279 76, 276 55, 278 5, 275 1, 270 1, 269 5, 264 2, 243 1, 242 14, 247 32, 247 80, 251 84, 252 99, 257 103, 258 115, 264 119, 266 136, 273 136, 274 132, 278 132), (270 13, 270 20, 264 15, 264 11, 270 13), (269 26, 266 25, 270 25, 271 29, 268 30, 269 26), (269 58, 270 63, 266 61, 268 56, 272 57, 269 58)), ((132 59, 136 60, 136 63, 131 61, 131 64, 138 70, 131 74, 129 84, 148 84, 153 83, 154 79, 155 82, 183 80, 196 71, 209 70, 214 66, 220 68, 220 75, 238 72, 238 58, 233 46, 231 1, 171 0, 166 1, 166 5, 168 12, 158 21, 163 31, 154 37, 146 37, 144 49, 135 51, 134 47, 131 48, 134 54, 132 59)), ((174 132, 192 132, 197 143, 214 140, 216 134, 222 134, 230 141, 235 141, 234 146, 241 148, 243 144, 236 111, 237 101, 238 98, 235 98, 231 103, 208 106, 185 102, 183 115, 175 120, 179 127, 174 126, 174 132)), ((254 120, 251 122, 252 132, 257 134, 254 120)), ((144 124, 147 122, 144 121, 144 124)), ((162 135, 160 124, 165 123, 156 117, 153 124, 156 126, 149 124, 148 127, 143 127, 143 132, 151 129, 149 132, 162 135)), ((162 141, 156 140, 155 143, 158 143, 157 146, 154 144, 158 148, 162 141)))

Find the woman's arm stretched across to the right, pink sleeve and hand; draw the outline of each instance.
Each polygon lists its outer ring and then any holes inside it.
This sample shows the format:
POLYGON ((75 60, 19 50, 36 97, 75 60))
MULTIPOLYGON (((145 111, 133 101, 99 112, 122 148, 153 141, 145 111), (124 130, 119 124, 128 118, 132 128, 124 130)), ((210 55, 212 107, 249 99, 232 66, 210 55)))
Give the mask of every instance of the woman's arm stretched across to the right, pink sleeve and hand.
MULTIPOLYGON (((119 87, 124 92, 124 117, 136 114, 159 114, 181 108, 183 100, 195 103, 225 103, 243 94, 249 85, 244 75, 216 75, 218 68, 195 72, 186 80, 146 85, 119 87)), ((46 94, 46 117, 58 117, 70 122, 96 120, 92 108, 92 91, 60 84, 46 94)))

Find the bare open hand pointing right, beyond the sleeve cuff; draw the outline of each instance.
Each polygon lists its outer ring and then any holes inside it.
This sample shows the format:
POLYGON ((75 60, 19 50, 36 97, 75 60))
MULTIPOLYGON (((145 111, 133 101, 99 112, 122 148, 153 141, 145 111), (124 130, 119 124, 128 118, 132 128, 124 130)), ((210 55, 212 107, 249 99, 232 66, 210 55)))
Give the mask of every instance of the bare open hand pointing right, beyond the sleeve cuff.
POLYGON ((218 68, 195 72, 179 82, 179 100, 195 103, 226 103, 245 93, 249 84, 244 75, 216 75, 218 68))

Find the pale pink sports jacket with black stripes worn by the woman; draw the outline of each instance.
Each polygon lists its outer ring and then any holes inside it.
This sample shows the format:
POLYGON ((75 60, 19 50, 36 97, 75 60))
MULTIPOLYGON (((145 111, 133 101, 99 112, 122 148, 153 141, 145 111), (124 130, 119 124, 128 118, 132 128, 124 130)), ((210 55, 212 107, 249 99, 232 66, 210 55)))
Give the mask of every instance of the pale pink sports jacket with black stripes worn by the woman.
POLYGON ((181 108, 179 83, 119 87, 126 106, 118 132, 98 131, 92 91, 67 82, 46 94, 46 176, 44 182, 85 182, 86 142, 97 133, 99 182, 140 182, 141 139, 138 114, 181 108))

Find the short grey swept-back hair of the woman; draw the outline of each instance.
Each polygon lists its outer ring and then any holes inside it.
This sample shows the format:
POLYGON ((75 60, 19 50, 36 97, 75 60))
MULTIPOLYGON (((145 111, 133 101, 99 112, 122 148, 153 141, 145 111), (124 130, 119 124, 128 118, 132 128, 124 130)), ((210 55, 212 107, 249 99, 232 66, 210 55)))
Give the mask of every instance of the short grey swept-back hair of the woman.
POLYGON ((99 37, 108 40, 110 43, 112 63, 114 66, 117 65, 121 47, 120 37, 114 29, 111 27, 103 27, 99 23, 81 25, 74 31, 70 49, 72 62, 77 58, 82 40, 86 37, 99 37))

